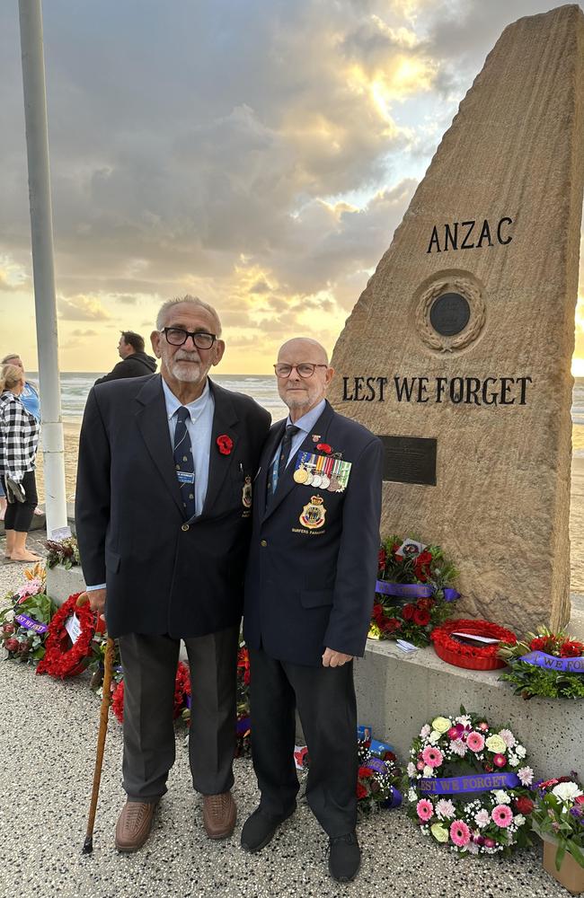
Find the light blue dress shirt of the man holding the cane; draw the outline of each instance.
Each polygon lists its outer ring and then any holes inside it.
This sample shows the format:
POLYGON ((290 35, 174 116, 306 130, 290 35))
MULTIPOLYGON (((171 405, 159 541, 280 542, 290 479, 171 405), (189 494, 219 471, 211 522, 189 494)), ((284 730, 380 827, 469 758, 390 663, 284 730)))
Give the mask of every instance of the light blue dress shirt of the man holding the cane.
MULTIPOLYGON (((172 447, 174 445, 176 412, 181 408, 181 402, 178 401, 171 388, 164 381, 164 377, 162 382, 166 417, 168 418, 168 432, 172 447)), ((189 409, 189 418, 187 418, 186 424, 195 465, 195 515, 200 515, 207 496, 208 463, 211 454, 211 436, 213 435, 213 416, 215 414, 215 400, 213 399, 213 393, 209 389, 208 381, 199 399, 189 402, 185 408, 189 409)), ((105 584, 100 583, 86 587, 88 593, 93 589, 105 589, 105 584)))

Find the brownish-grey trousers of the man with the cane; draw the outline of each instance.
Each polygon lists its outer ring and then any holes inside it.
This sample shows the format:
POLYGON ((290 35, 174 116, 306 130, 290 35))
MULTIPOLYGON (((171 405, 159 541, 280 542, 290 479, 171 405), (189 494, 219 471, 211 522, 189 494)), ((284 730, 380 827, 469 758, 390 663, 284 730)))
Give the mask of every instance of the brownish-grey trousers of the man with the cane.
MULTIPOLYGON (((186 638, 190 665, 189 760, 193 787, 218 795, 234 784, 239 627, 186 638)), ((156 801, 174 763, 173 700, 180 641, 119 638, 124 669, 123 785, 130 801, 156 801)))

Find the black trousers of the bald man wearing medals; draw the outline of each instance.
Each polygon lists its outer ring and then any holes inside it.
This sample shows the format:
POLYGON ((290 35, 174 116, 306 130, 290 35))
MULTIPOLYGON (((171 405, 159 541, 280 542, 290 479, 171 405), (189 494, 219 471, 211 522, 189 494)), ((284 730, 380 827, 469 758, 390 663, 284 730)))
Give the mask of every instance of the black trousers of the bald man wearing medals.
POLYGON ((294 744, 298 709, 310 767, 306 800, 332 838, 357 823, 357 703, 353 663, 307 667, 250 649, 252 758, 268 814, 286 814, 298 778, 294 744))

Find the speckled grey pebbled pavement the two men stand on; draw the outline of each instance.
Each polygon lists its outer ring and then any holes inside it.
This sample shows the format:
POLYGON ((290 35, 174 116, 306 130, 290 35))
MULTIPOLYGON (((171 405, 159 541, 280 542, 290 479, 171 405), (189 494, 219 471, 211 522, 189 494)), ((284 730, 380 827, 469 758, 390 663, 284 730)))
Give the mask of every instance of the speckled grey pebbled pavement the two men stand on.
MULTIPOLYGON (((32 542, 32 541, 31 541, 32 542)), ((2 546, 0 545, 0 550, 2 546)), ((19 566, 0 566, 0 595, 22 582, 19 566)), ((205 837, 199 798, 190 788, 186 730, 177 728, 169 792, 145 848, 120 856, 113 830, 124 797, 121 728, 111 718, 93 855, 84 856, 85 815, 93 779, 99 702, 86 677, 56 682, 30 666, 0 661, 0 895, 2 898, 263 898, 390 895, 403 898, 560 898, 544 873, 541 847, 509 860, 458 858, 416 831, 403 811, 359 825, 358 880, 335 884, 327 841, 305 805, 260 854, 239 847, 257 801, 252 765, 235 762, 239 819, 234 837, 205 837)))

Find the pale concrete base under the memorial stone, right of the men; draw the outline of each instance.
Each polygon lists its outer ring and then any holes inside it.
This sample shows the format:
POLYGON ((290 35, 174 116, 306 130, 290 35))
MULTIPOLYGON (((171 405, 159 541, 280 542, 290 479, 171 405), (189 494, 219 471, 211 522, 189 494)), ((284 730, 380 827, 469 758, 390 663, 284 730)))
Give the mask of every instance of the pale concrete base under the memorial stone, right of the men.
POLYGON ((570 773, 582 755, 582 701, 521 699, 502 671, 477 672, 447 665, 433 648, 410 656, 394 642, 367 640, 355 664, 358 722, 407 760, 411 740, 438 715, 456 715, 461 705, 509 726, 526 746, 536 777, 570 773))

